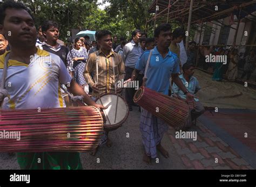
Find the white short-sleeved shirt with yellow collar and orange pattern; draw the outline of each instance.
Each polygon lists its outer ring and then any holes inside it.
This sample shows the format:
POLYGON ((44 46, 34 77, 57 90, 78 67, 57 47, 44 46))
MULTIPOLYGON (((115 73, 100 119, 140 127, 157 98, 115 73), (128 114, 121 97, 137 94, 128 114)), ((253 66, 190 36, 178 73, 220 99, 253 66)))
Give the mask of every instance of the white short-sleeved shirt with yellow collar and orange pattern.
MULTIPOLYGON (((0 56, 0 77, 6 54, 0 56)), ((3 109, 50 109, 65 107, 60 84, 72 80, 59 56, 41 49, 30 64, 9 59, 5 89, 8 100, 3 109)))

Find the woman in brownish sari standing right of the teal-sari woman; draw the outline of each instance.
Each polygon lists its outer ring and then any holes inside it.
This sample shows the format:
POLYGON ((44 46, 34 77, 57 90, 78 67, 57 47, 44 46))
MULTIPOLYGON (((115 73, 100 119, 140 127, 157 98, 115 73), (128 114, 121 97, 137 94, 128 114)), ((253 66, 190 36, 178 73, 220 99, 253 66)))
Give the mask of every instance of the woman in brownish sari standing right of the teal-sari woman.
POLYGON ((238 50, 233 49, 230 53, 230 63, 228 64, 228 69, 226 73, 227 80, 230 82, 234 82, 238 77, 238 61, 238 50))

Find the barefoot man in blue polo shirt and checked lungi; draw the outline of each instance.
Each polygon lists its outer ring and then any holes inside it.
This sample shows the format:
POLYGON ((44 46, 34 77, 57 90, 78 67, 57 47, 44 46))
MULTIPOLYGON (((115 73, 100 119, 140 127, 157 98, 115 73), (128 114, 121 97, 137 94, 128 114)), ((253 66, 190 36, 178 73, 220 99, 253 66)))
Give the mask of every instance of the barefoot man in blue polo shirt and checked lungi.
MULTIPOLYGON (((171 44, 171 25, 162 24, 154 30, 154 37, 158 44, 152 49, 149 67, 145 76, 147 77, 146 87, 154 91, 168 95, 170 86, 170 77, 176 85, 184 92, 187 100, 192 100, 193 96, 189 93, 178 77, 179 60, 176 54, 169 50, 171 44)), ((133 71, 132 80, 136 80, 140 70, 146 68, 147 59, 150 51, 146 51, 140 56, 136 64, 136 70, 133 71)), ((153 116, 149 111, 143 110, 140 117, 140 132, 142 132, 145 154, 143 161, 151 162, 151 157, 157 157, 157 150, 166 158, 169 153, 161 146, 161 139, 167 131, 167 124, 159 118, 153 116)))

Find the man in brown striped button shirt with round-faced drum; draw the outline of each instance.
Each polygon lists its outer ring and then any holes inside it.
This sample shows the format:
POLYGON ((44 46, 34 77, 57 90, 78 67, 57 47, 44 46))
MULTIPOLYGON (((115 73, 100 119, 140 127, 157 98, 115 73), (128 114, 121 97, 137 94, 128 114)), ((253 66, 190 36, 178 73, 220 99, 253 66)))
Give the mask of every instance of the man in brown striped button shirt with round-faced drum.
MULTIPOLYGON (((116 81, 122 81, 125 77, 124 62, 122 57, 112 51, 112 33, 107 30, 99 31, 97 39, 100 45, 99 51, 89 55, 87 60, 84 77, 85 81, 92 88, 92 97, 97 99, 104 93, 122 92, 122 88, 116 88, 116 81), (93 72, 93 80, 90 73, 93 72)), ((100 145, 106 142, 107 147, 112 146, 112 142, 107 138, 102 139, 100 145)), ((96 150, 97 151, 97 150, 96 150)), ((96 151, 93 155, 96 154, 96 151)))

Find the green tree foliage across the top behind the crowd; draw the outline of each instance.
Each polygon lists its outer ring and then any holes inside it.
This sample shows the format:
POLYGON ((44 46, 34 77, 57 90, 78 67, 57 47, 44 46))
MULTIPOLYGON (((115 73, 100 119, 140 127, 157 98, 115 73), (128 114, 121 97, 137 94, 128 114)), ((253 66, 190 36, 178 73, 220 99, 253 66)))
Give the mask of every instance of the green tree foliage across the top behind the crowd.
MULTIPOLYGON (((18 0, 19 1, 19 0, 18 0)), ((109 2, 105 10, 98 8, 97 0, 23 0, 34 13, 36 26, 44 20, 55 20, 60 27, 60 39, 68 39, 71 28, 79 30, 110 30, 113 35, 131 38, 131 32, 138 28, 147 31, 153 37, 154 20, 147 10, 153 0, 103 0, 109 2)), ((166 17, 159 17, 156 26, 166 23, 166 17)), ((182 27, 180 23, 172 21, 172 28, 182 27)), ((191 29, 190 39, 193 38, 194 27, 191 29)))

